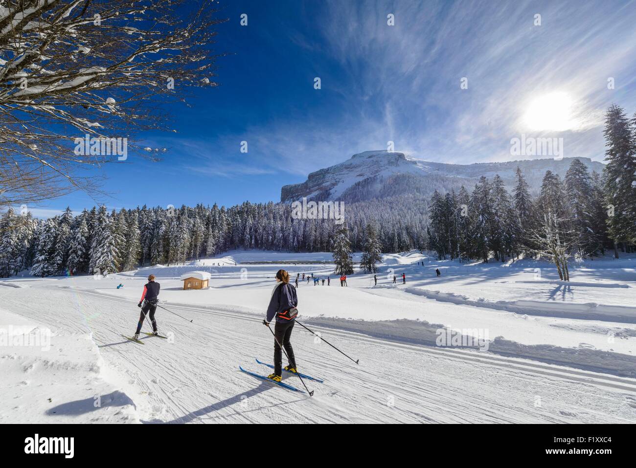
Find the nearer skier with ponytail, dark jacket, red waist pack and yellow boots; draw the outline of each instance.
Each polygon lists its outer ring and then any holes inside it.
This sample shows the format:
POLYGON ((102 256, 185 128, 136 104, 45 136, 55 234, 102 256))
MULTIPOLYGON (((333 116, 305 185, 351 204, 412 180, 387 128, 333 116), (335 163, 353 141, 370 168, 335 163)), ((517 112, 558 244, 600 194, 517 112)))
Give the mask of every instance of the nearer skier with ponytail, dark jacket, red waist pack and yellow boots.
POLYGON ((294 349, 291 347, 289 338, 294 328, 294 321, 298 310, 298 296, 296 296, 296 288, 289 284, 289 274, 285 270, 279 270, 276 273, 276 286, 272 292, 272 299, 267 308, 267 317, 263 320, 263 324, 269 326, 270 322, 276 318, 274 327, 274 373, 268 375, 268 378, 280 382, 282 380, 282 352, 280 347, 285 348, 289 363, 285 366, 285 370, 296 373, 296 359, 294 358, 294 349))

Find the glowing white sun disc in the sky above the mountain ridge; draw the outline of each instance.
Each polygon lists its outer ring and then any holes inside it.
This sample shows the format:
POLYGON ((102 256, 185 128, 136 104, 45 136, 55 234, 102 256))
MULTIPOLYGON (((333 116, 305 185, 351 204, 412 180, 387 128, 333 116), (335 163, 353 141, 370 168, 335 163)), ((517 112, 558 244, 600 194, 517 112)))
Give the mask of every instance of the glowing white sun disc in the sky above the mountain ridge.
POLYGON ((541 95, 529 101, 523 124, 530 130, 564 132, 576 127, 572 115, 572 98, 565 92, 541 95))

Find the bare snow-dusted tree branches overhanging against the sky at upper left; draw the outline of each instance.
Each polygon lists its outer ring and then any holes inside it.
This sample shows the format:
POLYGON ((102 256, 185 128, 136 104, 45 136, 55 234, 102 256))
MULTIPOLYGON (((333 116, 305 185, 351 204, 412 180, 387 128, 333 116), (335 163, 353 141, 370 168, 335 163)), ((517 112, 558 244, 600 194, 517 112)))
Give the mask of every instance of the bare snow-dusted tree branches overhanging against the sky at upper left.
POLYGON ((169 130, 159 103, 218 85, 214 15, 209 0, 0 1, 0 205, 96 190, 81 169, 117 155, 78 154, 78 138, 169 130))

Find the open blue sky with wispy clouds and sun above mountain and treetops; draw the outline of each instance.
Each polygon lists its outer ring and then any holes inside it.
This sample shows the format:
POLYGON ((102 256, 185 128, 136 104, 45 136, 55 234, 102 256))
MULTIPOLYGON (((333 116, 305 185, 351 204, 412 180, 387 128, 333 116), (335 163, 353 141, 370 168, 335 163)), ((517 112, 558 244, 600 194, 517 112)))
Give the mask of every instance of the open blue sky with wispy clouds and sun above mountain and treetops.
MULTIPOLYGON (((219 4, 229 21, 215 50, 230 54, 218 60, 221 86, 170 107, 176 133, 146 135, 169 148, 161 162, 104 168, 112 196, 100 202, 278 201, 282 185, 387 141, 466 164, 514 159, 510 139, 521 134, 563 137, 565 156, 602 160, 604 110, 636 112, 635 1, 219 4)), ((34 212, 94 204, 74 193, 34 212)))

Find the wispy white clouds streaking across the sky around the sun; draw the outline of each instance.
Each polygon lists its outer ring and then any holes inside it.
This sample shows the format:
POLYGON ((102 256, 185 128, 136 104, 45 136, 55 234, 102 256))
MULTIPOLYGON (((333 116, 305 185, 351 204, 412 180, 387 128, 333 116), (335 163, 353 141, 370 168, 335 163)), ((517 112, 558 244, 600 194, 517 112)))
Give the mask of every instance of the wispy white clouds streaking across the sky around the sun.
MULTIPOLYGON (((547 135, 563 137, 570 156, 598 160, 607 106, 636 110, 633 1, 392 5, 326 2, 317 21, 345 79, 323 78, 321 91, 337 92, 342 102, 328 116, 278 115, 250 129, 293 172, 385 148, 389 139, 398 151, 428 160, 509 159, 510 139, 531 130, 523 119, 529 102, 560 90, 572 97, 576 125, 547 135), (467 90, 460 89, 462 77, 467 90), (615 90, 607 89, 611 77, 615 90)), ((310 48, 310 39, 293 34, 310 48)))

